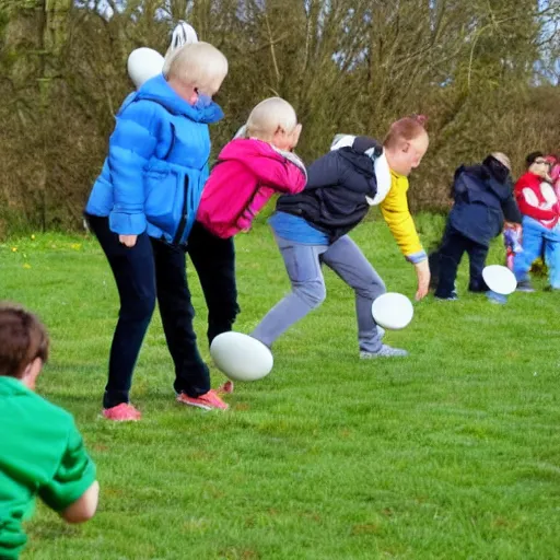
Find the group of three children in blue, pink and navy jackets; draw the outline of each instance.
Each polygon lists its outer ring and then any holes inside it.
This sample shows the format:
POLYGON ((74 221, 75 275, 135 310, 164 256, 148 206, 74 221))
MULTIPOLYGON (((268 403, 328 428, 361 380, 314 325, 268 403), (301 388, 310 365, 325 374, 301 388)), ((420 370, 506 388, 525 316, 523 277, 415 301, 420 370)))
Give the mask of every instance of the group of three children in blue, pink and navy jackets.
POLYGON ((282 98, 268 98, 250 112, 209 173, 208 125, 223 116, 212 96, 226 77, 228 61, 213 46, 190 37, 167 52, 163 71, 137 83, 120 107, 108 156, 85 208, 120 296, 103 398, 109 420, 141 417, 129 392, 156 300, 175 364, 176 400, 228 408, 222 397, 232 385, 210 388, 197 348, 186 254, 200 278, 211 342, 232 329, 240 311, 233 237, 250 228, 275 194, 282 196, 270 225, 292 293, 253 332, 268 347, 324 300, 320 268, 326 264, 355 292, 360 357, 406 355, 382 342, 371 305, 385 285, 347 235, 372 205, 381 205, 402 253, 416 266, 417 296, 429 289, 428 257, 407 203, 407 176, 429 143, 422 118, 396 121, 383 144, 342 136, 306 168, 293 152, 302 130, 295 110, 282 98))

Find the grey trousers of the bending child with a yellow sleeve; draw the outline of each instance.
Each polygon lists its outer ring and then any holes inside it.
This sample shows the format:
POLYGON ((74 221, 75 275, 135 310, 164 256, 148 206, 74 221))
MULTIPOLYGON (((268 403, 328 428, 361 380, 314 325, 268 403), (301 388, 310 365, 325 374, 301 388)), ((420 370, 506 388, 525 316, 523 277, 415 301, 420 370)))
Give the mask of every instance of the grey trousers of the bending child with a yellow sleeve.
POLYGON ((332 245, 304 245, 278 236, 276 242, 284 259, 292 292, 268 312, 250 336, 271 347, 289 327, 318 307, 327 295, 322 271, 325 264, 355 293, 360 350, 377 352, 382 340, 372 316, 372 303, 386 290, 358 245, 348 235, 332 245))

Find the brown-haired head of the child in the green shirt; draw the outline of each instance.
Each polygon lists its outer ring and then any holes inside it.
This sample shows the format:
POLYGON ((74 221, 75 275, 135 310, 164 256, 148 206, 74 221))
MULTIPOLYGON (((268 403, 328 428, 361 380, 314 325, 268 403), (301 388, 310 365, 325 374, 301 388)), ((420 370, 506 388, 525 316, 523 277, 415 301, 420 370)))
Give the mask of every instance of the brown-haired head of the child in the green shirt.
POLYGON ((0 303, 0 375, 21 377, 36 358, 48 359, 48 334, 23 307, 0 303))

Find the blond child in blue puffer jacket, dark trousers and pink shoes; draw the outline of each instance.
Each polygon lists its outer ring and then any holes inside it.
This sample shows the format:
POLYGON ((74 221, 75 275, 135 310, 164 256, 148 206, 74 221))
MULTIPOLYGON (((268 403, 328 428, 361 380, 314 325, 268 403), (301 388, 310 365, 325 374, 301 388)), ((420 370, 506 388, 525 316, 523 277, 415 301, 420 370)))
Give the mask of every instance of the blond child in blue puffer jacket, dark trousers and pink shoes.
POLYGON ((155 298, 175 363, 177 400, 228 408, 210 390, 208 368, 198 352, 185 259, 208 178, 208 125, 223 116, 212 95, 228 73, 228 60, 211 45, 195 43, 174 51, 164 72, 120 107, 108 156, 85 208, 120 296, 103 399, 103 415, 110 420, 140 419, 129 390, 155 298))

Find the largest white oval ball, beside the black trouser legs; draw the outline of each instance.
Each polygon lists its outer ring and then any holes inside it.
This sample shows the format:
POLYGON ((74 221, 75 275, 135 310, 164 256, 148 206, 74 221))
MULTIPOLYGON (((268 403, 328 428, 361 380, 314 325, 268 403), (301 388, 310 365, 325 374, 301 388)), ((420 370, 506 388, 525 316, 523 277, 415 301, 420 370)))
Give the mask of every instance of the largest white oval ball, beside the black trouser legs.
POLYGON ((222 332, 210 346, 217 368, 230 380, 256 381, 270 373, 272 352, 259 340, 241 332, 222 332))

